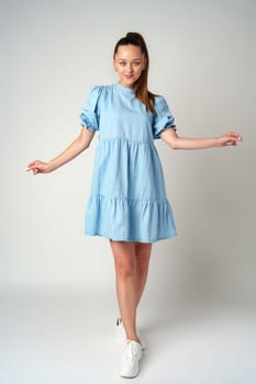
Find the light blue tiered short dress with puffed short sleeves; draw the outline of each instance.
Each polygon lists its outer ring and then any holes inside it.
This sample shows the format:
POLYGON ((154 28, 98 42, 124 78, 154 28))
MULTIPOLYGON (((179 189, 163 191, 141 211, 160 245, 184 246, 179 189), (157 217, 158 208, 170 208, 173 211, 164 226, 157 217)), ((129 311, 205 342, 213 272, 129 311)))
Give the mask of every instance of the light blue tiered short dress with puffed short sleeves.
POLYGON ((86 235, 155 242, 176 236, 154 139, 176 129, 163 97, 153 115, 133 89, 119 83, 92 87, 80 111, 81 125, 99 131, 86 235))

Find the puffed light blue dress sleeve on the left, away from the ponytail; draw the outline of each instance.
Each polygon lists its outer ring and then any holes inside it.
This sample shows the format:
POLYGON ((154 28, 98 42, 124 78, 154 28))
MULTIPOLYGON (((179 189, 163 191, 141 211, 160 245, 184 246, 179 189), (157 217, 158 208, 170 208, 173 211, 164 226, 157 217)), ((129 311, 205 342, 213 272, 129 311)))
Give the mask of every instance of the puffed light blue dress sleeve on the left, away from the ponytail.
POLYGON ((89 131, 99 131, 99 98, 102 87, 91 87, 87 98, 87 103, 84 109, 79 111, 81 126, 89 131))

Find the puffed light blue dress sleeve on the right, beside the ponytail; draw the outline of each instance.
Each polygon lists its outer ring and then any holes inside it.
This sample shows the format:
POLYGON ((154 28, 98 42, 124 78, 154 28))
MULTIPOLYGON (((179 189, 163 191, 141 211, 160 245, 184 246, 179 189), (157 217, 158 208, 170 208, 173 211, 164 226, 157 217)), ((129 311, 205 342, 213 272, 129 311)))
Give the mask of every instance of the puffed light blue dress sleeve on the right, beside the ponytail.
POLYGON ((176 131, 175 117, 166 100, 163 97, 156 97, 155 114, 153 116, 154 138, 160 138, 160 133, 169 127, 176 131))

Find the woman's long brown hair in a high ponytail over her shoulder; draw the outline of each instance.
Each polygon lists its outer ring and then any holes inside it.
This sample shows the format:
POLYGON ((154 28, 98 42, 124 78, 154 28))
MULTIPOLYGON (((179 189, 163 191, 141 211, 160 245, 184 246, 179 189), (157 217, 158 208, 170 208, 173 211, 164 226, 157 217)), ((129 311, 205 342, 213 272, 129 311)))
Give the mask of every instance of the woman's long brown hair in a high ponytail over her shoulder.
POLYGON ((142 75, 140 79, 136 80, 136 82, 133 86, 135 95, 138 100, 143 102, 143 104, 146 105, 146 108, 154 114, 155 113, 155 94, 149 92, 147 89, 147 76, 148 76, 148 68, 149 68, 149 56, 146 47, 146 43, 143 38, 143 36, 140 33, 136 32, 129 32, 125 37, 122 37, 118 41, 114 47, 114 54, 116 55, 118 49, 121 45, 135 45, 141 48, 142 54, 145 56, 146 59, 146 66, 145 69, 142 71, 142 75))

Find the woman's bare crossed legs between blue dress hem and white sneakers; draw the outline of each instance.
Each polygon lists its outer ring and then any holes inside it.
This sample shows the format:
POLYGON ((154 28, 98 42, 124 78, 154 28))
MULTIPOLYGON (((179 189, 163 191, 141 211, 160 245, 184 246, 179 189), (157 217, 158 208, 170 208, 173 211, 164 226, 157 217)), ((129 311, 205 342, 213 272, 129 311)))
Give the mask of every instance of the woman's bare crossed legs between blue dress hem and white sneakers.
POLYGON ((145 287, 151 244, 110 241, 114 256, 116 295, 126 338, 138 341, 136 307, 145 287))

